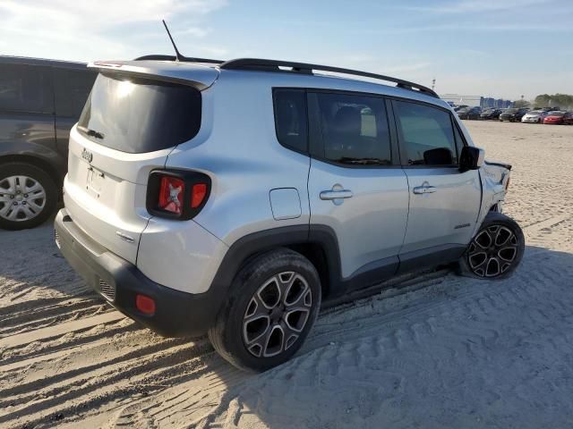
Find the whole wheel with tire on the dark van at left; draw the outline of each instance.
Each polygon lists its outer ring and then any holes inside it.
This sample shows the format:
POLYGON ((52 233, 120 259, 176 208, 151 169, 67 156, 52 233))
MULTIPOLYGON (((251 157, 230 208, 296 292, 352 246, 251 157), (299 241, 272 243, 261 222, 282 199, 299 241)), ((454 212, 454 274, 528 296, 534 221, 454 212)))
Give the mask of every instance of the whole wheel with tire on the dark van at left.
POLYGON ((56 209, 57 188, 35 165, 0 165, 0 228, 24 230, 47 220, 56 209))

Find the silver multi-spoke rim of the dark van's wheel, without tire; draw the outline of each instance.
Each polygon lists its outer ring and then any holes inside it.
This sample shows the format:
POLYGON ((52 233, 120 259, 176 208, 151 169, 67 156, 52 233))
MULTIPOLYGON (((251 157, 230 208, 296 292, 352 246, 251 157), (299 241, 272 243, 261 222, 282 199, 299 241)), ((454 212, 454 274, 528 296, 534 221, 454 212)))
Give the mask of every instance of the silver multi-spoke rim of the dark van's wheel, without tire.
POLYGON ((33 219, 46 206, 46 189, 29 176, 0 180, 0 217, 13 222, 33 219))

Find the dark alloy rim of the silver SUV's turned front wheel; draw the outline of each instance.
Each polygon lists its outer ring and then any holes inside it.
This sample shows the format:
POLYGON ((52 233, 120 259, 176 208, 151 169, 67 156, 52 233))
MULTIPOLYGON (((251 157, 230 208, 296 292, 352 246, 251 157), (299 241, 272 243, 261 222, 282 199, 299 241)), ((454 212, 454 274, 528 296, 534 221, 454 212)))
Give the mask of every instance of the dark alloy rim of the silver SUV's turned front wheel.
POLYGON ((508 271, 517 257, 516 234, 502 225, 479 231, 469 245, 467 262, 479 277, 496 277, 508 271))

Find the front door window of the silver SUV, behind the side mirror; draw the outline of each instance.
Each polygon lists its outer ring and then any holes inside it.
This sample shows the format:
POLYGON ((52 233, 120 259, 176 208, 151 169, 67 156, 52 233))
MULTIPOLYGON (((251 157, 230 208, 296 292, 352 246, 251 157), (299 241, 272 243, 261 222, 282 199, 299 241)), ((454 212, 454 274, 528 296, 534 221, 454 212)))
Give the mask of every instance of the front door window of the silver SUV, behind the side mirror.
POLYGON ((408 165, 456 165, 458 152, 448 112, 395 101, 398 133, 408 165))

